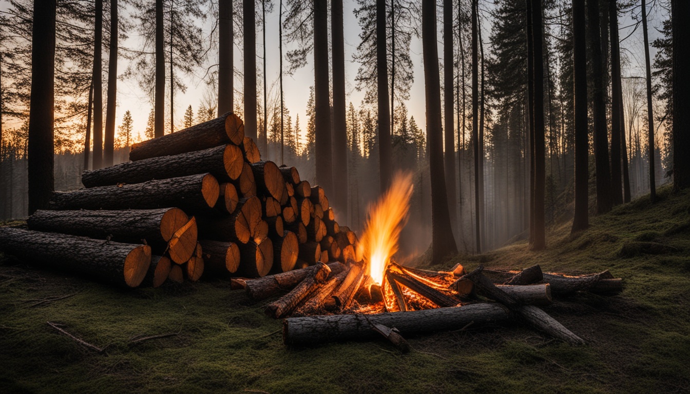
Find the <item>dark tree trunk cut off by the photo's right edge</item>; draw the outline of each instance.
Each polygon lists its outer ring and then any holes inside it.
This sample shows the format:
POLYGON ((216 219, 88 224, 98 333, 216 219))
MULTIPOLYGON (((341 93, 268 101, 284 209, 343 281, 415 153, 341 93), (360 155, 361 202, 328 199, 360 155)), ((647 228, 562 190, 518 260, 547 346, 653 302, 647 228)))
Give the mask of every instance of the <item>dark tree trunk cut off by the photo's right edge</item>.
POLYGON ((690 4, 671 0, 671 29, 673 30, 673 190, 690 186, 690 155, 684 150, 690 146, 690 119, 684 105, 690 102, 690 76, 687 73, 687 43, 690 29, 684 23, 690 20, 690 4))

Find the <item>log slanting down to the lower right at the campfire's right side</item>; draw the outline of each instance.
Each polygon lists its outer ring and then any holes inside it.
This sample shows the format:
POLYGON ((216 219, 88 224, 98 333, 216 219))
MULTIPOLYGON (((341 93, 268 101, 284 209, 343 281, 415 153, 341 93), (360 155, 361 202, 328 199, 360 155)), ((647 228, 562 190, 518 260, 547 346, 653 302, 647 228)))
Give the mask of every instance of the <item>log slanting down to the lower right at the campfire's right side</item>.
POLYGON ((569 331, 556 319, 553 319, 553 317, 549 316, 549 314, 545 313, 537 306, 522 305, 517 299, 509 295, 509 293, 496 287, 488 277, 482 275, 483 269, 484 267, 479 266, 462 278, 471 280, 477 287, 477 292, 481 295, 504 304, 538 330, 552 337, 561 339, 564 342, 568 342, 569 344, 584 344, 582 338, 569 331))

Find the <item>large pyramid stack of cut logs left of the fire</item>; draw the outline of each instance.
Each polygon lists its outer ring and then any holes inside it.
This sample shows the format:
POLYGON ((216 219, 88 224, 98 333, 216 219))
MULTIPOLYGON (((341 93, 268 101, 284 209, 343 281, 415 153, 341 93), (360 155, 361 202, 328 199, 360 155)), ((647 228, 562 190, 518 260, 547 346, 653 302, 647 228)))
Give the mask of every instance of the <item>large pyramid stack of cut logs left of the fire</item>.
POLYGON ((230 112, 135 144, 82 183, 54 193, 29 230, 0 228, 0 250, 130 287, 362 259, 323 188, 262 161, 230 112))

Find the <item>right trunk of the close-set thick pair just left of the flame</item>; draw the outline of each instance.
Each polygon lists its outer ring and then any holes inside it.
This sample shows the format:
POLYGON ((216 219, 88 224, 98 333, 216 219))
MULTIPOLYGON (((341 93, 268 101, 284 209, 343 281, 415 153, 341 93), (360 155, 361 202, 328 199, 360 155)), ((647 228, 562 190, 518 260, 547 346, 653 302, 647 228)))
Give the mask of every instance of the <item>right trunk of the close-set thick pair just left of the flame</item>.
MULTIPOLYGON (((343 2, 331 0, 331 48, 333 52, 333 205, 348 215, 347 129, 345 119, 345 49, 343 2)), ((328 207, 324 207, 328 208, 328 207)))

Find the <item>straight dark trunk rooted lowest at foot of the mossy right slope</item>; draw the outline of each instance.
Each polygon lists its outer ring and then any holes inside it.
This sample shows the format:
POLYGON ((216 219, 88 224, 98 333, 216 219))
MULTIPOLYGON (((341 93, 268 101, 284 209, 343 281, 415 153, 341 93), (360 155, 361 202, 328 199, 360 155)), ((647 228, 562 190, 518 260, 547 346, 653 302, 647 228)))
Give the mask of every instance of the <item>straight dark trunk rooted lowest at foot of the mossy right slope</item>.
POLYGON ((542 0, 530 0, 532 13, 532 61, 534 81, 534 101, 531 106, 532 124, 534 127, 534 228, 530 237, 530 249, 542 250, 546 248, 546 223, 544 219, 544 186, 546 180, 546 164, 544 160, 544 47, 542 39, 542 0))

